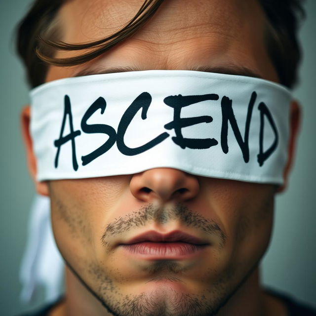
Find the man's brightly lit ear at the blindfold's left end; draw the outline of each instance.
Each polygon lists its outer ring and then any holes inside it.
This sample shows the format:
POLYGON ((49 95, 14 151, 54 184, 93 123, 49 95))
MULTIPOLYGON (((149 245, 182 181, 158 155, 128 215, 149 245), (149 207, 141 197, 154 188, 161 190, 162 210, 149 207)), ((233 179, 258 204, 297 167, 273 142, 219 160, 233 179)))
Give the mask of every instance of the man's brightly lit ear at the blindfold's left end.
POLYGON ((22 126, 22 136, 24 140, 24 145, 26 148, 26 156, 28 168, 35 183, 36 191, 42 196, 48 196, 48 186, 47 183, 42 181, 39 182, 36 179, 37 176, 37 161, 33 151, 33 142, 30 133, 30 122, 31 122, 31 108, 26 106, 21 112, 21 126, 22 126))

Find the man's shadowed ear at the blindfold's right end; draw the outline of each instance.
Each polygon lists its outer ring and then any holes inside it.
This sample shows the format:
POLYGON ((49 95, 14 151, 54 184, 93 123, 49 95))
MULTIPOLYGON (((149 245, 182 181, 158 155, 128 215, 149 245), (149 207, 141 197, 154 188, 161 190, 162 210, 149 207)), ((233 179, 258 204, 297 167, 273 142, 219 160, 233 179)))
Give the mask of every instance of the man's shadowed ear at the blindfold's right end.
POLYGON ((296 140, 301 123, 301 107, 296 100, 293 100, 290 105, 290 138, 288 143, 288 158, 283 172, 284 184, 277 189, 277 192, 283 192, 287 187, 288 176, 293 165, 296 140))

